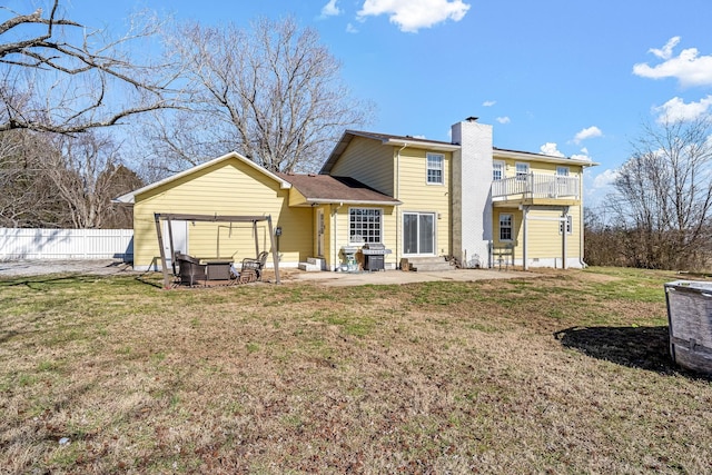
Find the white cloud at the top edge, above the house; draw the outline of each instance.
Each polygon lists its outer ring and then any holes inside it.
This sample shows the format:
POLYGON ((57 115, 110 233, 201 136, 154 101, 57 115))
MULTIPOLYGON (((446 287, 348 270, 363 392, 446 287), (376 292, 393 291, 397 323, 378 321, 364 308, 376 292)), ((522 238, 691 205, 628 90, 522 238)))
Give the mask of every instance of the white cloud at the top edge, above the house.
POLYGON ((469 4, 463 0, 365 0, 357 18, 387 14, 400 31, 416 33, 446 20, 459 21, 467 10, 469 4))

